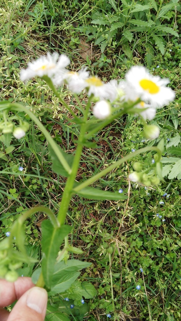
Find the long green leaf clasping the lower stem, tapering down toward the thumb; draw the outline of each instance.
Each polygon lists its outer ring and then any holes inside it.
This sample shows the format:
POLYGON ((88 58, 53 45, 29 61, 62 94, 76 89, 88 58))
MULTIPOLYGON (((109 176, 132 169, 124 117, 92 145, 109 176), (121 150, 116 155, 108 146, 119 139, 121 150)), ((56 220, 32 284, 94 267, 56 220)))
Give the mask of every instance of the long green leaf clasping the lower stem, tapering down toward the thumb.
POLYGON ((45 284, 48 288, 51 287, 56 257, 64 238, 71 230, 71 226, 62 225, 54 228, 49 220, 44 220, 41 224, 42 229, 42 253, 41 262, 42 273, 45 284))

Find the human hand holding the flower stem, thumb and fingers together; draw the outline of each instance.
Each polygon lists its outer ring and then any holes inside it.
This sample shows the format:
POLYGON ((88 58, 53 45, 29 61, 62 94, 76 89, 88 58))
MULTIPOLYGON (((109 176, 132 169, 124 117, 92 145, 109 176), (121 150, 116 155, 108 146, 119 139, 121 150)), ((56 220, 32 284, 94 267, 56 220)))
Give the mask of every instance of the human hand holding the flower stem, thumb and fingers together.
POLYGON ((31 278, 20 277, 15 282, 0 280, 1 321, 43 321, 47 307, 47 291, 35 287, 31 278), (9 313, 3 307, 18 300, 9 313))

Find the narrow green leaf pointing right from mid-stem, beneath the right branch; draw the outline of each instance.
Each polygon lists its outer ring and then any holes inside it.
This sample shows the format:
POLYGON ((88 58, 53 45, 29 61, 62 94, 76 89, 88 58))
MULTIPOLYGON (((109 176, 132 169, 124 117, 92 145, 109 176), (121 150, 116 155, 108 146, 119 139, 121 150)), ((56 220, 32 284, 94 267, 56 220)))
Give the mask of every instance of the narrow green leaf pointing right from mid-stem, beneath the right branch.
POLYGON ((119 201, 126 198, 125 195, 120 194, 119 192, 109 192, 103 191, 102 189, 94 188, 94 187, 85 187, 76 194, 92 199, 92 200, 112 200, 112 201, 119 201))

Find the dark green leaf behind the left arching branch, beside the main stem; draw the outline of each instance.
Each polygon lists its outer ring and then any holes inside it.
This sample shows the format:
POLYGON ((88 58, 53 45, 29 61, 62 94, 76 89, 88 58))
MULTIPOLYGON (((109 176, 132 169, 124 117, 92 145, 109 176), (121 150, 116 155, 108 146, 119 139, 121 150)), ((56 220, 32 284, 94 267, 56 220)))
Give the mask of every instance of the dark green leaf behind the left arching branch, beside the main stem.
MULTIPOLYGON (((68 154, 66 152, 64 152, 59 145, 57 145, 57 148, 59 149, 59 152, 61 152, 63 154, 64 159, 67 161, 68 165, 71 167, 73 160, 74 160, 74 156, 72 154, 68 154)), ((50 146, 49 144, 49 151, 50 151, 50 155, 51 155, 51 160, 52 160, 52 170, 56 173, 59 174, 63 177, 68 177, 69 174, 66 171, 66 169, 63 167, 63 165, 60 163, 57 155, 55 154, 53 148, 50 146)))

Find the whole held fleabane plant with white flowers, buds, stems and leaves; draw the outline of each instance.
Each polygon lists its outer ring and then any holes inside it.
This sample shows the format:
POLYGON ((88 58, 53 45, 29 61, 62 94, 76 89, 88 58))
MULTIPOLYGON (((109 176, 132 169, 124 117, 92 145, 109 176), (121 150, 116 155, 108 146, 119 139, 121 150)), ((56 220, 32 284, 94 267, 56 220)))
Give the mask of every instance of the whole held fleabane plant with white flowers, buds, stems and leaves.
MULTIPOLYGON (((24 247, 24 221, 37 211, 42 211, 49 216, 50 220, 43 221, 41 227, 42 261, 37 285, 42 287, 46 286, 50 294, 56 294, 60 291, 57 284, 59 284, 59 279, 62 277, 61 269, 66 270, 66 266, 68 265, 68 271, 71 271, 71 265, 74 265, 72 267, 73 273, 75 272, 75 265, 77 264, 77 273, 80 268, 88 266, 85 265, 85 262, 83 265, 81 265, 79 261, 75 263, 76 260, 70 260, 70 263, 68 263, 69 261, 67 262, 69 251, 82 253, 80 249, 71 247, 68 244, 68 233, 71 228, 65 225, 65 219, 72 195, 77 194, 92 200, 120 201, 125 199, 126 196, 123 195, 123 193, 120 194, 118 191, 114 193, 104 191, 91 187, 91 185, 125 161, 147 151, 155 152, 154 162, 146 169, 142 168, 142 164, 138 162, 135 163, 135 165, 133 165, 134 172, 130 173, 129 179, 145 186, 158 185, 160 179, 162 179, 160 160, 164 151, 163 140, 161 140, 157 146, 147 146, 131 152, 124 158, 116 160, 102 171, 95 173, 92 177, 77 183, 76 176, 83 146, 89 143, 93 135, 123 114, 140 117, 144 126, 145 137, 147 139, 158 138, 159 128, 147 122, 155 117, 157 108, 162 108, 175 98, 174 91, 167 87, 169 81, 149 74, 148 70, 143 66, 131 67, 125 75, 124 80, 119 82, 112 80, 105 83, 97 76, 90 75, 86 68, 79 71, 68 70, 67 67, 69 63, 70 60, 66 55, 59 56, 57 53, 52 55, 48 53, 46 56, 41 56, 39 59, 29 62, 28 67, 21 70, 20 79, 27 84, 30 79, 40 77, 47 82, 61 104, 71 113, 73 116, 71 122, 76 123, 79 128, 77 149, 74 156, 63 151, 61 146, 52 139, 40 120, 30 111, 30 108, 18 103, 9 103, 6 101, 0 103, 1 110, 4 109, 6 116, 8 111, 14 113, 23 111, 36 123, 48 141, 53 171, 67 178, 58 213, 55 214, 50 208, 45 206, 34 207, 24 213, 23 216, 14 223, 10 236, 0 242, 0 270, 3 271, 0 277, 14 281, 17 277, 15 269, 21 267, 24 262, 32 260, 28 257, 24 247), (82 117, 77 117, 59 95, 58 89, 63 85, 67 85, 68 89, 76 97, 78 107, 81 108, 82 111, 82 117), (82 91, 84 91, 88 97, 86 106, 81 106, 81 101, 77 96, 82 91), (90 113, 91 111, 92 115, 90 113), (150 169, 153 169, 151 175, 149 175, 150 169), (59 251, 63 241, 64 248, 59 251), (14 244, 16 244, 16 248, 18 248, 19 251, 14 249, 14 244)), ((28 130, 28 126, 22 122, 20 122, 20 127, 18 128, 14 128, 14 125, 10 126, 8 124, 8 126, 9 131, 13 132, 14 137, 18 139, 21 139, 28 130)), ((0 126, 2 133, 3 128, 3 126, 0 126)), ((72 282, 74 282, 75 279, 76 277, 72 278, 72 282)), ((68 286, 70 286, 70 281, 68 286)))

